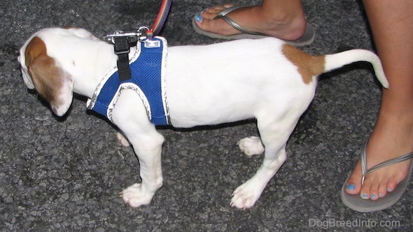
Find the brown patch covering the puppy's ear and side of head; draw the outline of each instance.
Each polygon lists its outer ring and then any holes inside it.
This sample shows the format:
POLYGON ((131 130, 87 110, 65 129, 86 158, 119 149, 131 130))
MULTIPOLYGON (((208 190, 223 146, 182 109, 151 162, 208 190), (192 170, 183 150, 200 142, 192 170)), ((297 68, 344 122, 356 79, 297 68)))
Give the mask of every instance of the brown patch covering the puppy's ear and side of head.
POLYGON ((46 45, 41 38, 34 37, 28 43, 25 65, 37 93, 51 104, 61 104, 59 92, 63 86, 63 72, 56 67, 54 58, 47 56, 46 45))

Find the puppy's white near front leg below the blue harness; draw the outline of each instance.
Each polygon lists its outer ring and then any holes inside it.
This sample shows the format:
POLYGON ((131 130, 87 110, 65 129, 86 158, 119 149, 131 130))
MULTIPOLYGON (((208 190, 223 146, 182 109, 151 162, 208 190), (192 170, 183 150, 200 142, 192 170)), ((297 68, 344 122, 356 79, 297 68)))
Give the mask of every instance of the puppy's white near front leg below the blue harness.
POLYGON ((120 196, 131 207, 149 205, 156 190, 162 187, 160 153, 164 138, 149 121, 145 106, 134 91, 122 91, 112 119, 133 146, 142 179, 142 183, 124 189, 120 196))

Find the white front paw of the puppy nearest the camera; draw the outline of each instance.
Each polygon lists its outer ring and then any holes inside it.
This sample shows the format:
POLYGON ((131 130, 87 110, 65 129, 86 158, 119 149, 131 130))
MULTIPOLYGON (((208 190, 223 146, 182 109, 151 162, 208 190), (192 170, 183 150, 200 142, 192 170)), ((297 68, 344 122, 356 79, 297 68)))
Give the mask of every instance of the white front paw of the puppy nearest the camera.
POLYGON ((153 198, 153 194, 145 192, 141 184, 134 184, 127 189, 124 189, 119 196, 130 207, 140 207, 141 205, 149 205, 153 198))

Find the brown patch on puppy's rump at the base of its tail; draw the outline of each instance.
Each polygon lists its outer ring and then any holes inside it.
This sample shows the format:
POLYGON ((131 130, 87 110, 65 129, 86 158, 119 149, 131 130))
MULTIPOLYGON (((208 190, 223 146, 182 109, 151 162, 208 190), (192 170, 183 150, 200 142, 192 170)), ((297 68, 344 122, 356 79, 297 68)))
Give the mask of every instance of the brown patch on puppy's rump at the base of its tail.
POLYGON ((320 73, 325 71, 324 56, 310 56, 304 51, 287 44, 283 45, 282 53, 290 62, 297 66, 298 72, 306 84, 313 82, 313 77, 319 76, 320 73))

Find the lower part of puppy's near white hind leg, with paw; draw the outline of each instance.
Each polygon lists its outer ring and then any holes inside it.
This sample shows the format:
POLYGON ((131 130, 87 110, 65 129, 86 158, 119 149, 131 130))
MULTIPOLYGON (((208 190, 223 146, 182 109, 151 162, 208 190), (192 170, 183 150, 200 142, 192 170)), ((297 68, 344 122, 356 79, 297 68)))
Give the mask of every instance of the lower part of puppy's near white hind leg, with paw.
POLYGON ((297 120, 288 119, 288 117, 284 117, 281 121, 260 120, 257 117, 258 129, 265 148, 264 161, 252 178, 235 189, 231 199, 231 207, 249 209, 260 198, 268 181, 286 161, 286 142, 293 132, 297 120))

